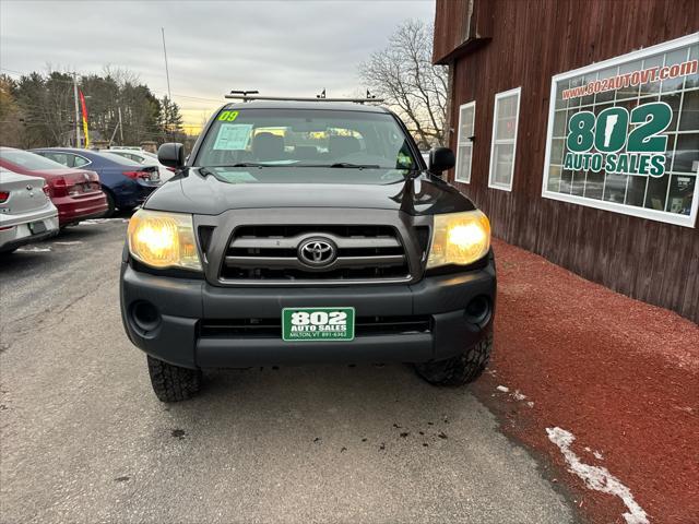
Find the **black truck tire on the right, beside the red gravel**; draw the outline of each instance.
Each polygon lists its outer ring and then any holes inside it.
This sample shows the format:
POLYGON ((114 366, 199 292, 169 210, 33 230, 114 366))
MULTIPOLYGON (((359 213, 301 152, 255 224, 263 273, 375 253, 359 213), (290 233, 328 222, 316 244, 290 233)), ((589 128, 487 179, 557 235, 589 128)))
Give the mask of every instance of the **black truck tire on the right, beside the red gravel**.
POLYGON ((493 352, 493 336, 488 335, 457 357, 436 362, 416 364, 417 373, 430 384, 464 385, 485 370, 493 352))

